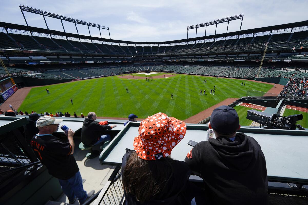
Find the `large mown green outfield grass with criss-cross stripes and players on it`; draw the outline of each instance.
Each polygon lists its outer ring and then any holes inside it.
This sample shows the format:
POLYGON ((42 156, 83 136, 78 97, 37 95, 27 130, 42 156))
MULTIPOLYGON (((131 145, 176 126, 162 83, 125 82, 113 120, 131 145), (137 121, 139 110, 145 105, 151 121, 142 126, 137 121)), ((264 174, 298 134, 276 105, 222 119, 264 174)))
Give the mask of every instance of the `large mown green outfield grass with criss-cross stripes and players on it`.
MULTIPOLYGON (((103 117, 146 118, 156 112, 185 120, 227 98, 245 96, 247 90, 267 92, 273 85, 230 78, 174 75, 170 78, 128 80, 117 76, 32 88, 18 110, 23 112, 96 112, 103 117), (203 83, 206 79, 207 83, 203 83), (215 94, 210 89, 215 85, 215 94), (46 94, 48 88, 50 94, 46 94), (129 93, 126 93, 128 88, 129 93), (200 90, 207 95, 200 95, 200 90), (174 100, 171 99, 171 93, 174 100), (73 99, 71 104, 70 98, 73 99)), ((207 116, 205 116, 206 118, 207 116)))

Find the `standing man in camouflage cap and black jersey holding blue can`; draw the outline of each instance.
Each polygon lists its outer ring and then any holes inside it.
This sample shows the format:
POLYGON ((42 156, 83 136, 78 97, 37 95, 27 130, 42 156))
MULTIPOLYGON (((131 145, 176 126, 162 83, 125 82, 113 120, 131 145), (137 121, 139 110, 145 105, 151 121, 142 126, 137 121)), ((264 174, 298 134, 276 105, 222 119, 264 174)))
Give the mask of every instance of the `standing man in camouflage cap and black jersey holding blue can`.
POLYGON ((44 116, 36 121, 39 133, 30 141, 35 155, 46 165, 48 173, 59 179, 59 183, 69 203, 84 203, 94 195, 94 190, 87 192, 83 190, 82 178, 74 156, 75 143, 74 132, 69 129, 66 133, 67 141, 64 142, 52 134, 59 129, 59 123, 63 119, 55 119, 51 116, 44 116), (39 149, 38 149, 39 146, 39 149))

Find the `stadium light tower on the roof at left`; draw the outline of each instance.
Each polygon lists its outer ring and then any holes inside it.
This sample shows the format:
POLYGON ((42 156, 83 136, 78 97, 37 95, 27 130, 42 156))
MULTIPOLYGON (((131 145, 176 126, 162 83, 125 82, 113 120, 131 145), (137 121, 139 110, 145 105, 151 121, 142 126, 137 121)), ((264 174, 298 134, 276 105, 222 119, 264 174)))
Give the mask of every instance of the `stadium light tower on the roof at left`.
POLYGON ((23 18, 24 18, 25 21, 26 21, 27 26, 29 26, 29 25, 28 25, 28 22, 27 22, 27 20, 26 20, 25 15, 24 15, 24 13, 25 13, 26 11, 27 11, 27 12, 30 12, 30 13, 33 13, 33 14, 42 15, 43 18, 44 18, 44 21, 45 21, 45 24, 46 24, 48 30, 49 30, 49 28, 48 28, 48 25, 47 25, 47 22, 46 22, 45 17, 51 17, 51 18, 59 19, 59 20, 61 21, 61 24, 62 24, 62 27, 63 27, 64 32, 65 32, 65 29, 64 29, 64 26, 63 26, 63 21, 68 21, 68 22, 72 22, 72 23, 75 24, 75 27, 76 27, 76 30, 77 30, 77 34, 79 34, 79 33, 78 33, 78 29, 77 29, 77 24, 81 24, 81 25, 85 25, 85 26, 88 27, 90 36, 91 36, 91 33, 90 33, 90 28, 89 28, 89 26, 98 28, 98 29, 99 29, 99 35, 100 35, 100 37, 102 37, 102 35, 101 35, 101 33, 100 33, 100 29, 108 30, 109 38, 111 39, 109 27, 100 26, 99 24, 90 23, 90 22, 86 22, 86 21, 81 21, 81 20, 77 20, 77 19, 74 19, 74 18, 69 18, 69 17, 66 17, 66 16, 61 16, 61 15, 59 15, 59 14, 54 14, 54 13, 51 13, 51 12, 48 12, 48 11, 43 11, 43 10, 35 9, 35 8, 29 7, 29 6, 24 6, 24 5, 21 5, 21 4, 19 4, 19 8, 20 8, 20 11, 21 11, 21 13, 22 13, 23 18), (23 12, 23 11, 24 11, 24 12, 23 12))

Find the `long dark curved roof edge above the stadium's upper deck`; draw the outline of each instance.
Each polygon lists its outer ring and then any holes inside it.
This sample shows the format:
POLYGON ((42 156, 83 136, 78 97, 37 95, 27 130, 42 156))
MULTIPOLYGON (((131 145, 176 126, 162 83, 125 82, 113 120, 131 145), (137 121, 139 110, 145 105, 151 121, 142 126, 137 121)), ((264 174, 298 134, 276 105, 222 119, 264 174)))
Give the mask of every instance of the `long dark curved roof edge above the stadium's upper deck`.
POLYGON ((266 26, 266 27, 249 29, 249 30, 234 31, 234 32, 229 32, 229 33, 202 36, 202 37, 197 37, 197 38, 174 40, 174 41, 152 41, 152 42, 146 41, 146 42, 144 42, 144 41, 121 41, 121 40, 114 40, 114 39, 107 39, 107 38, 100 38, 100 37, 91 37, 91 36, 66 33, 66 32, 56 31, 56 30, 48 30, 48 29, 32 27, 32 26, 24 26, 24 25, 18 25, 18 24, 13 24, 13 23, 0 22, 0 27, 6 28, 6 29, 16 29, 16 30, 31 31, 31 32, 37 32, 37 33, 43 33, 43 34, 51 34, 51 35, 82 38, 82 39, 88 39, 88 40, 105 41, 105 42, 113 42, 113 43, 124 43, 124 44, 183 43, 183 42, 189 42, 189 41, 200 41, 200 40, 213 39, 213 38, 221 38, 221 37, 237 36, 237 35, 243 35, 243 34, 260 33, 260 32, 272 31, 272 30, 290 29, 290 28, 296 28, 296 27, 302 27, 302 26, 308 26, 308 21, 287 23, 287 24, 281 24, 281 25, 276 25, 276 26, 266 26))

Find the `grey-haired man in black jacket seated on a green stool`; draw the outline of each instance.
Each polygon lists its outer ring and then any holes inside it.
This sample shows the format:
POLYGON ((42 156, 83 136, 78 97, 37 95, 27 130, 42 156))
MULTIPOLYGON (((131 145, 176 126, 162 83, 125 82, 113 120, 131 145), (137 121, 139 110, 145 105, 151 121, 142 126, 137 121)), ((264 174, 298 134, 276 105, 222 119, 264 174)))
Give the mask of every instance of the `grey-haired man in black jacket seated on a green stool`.
POLYGON ((87 146, 93 146, 110 140, 110 135, 104 134, 108 129, 115 128, 116 125, 101 125, 96 120, 96 113, 89 112, 88 118, 83 121, 81 140, 87 146))

